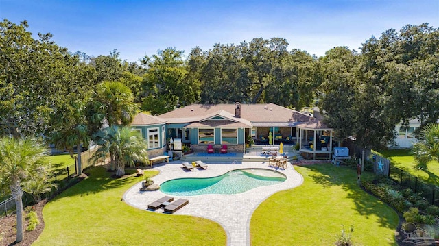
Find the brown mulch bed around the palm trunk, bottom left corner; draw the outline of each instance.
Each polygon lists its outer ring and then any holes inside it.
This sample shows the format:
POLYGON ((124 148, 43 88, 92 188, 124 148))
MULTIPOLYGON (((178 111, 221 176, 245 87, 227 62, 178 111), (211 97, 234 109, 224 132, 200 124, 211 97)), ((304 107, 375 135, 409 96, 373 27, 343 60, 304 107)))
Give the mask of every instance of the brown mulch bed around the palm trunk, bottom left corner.
POLYGON ((32 245, 36 238, 40 236, 43 232, 45 223, 43 220, 43 207, 45 206, 47 200, 40 201, 38 204, 34 205, 35 212, 38 214, 38 220, 40 223, 36 226, 35 230, 28 232, 27 221, 25 220, 26 212, 23 211, 23 241, 20 243, 15 243, 16 240, 16 215, 11 215, 0 219, 0 245, 20 245, 28 246, 32 245))

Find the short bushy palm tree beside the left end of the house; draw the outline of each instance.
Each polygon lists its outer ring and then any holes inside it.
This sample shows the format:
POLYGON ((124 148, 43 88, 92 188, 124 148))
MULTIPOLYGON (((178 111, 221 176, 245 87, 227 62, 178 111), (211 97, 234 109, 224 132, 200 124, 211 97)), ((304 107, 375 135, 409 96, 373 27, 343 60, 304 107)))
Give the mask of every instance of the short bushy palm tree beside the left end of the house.
POLYGON ((148 162, 147 143, 139 132, 130 127, 112 125, 95 135, 99 148, 93 155, 97 160, 106 153, 114 153, 116 176, 125 175, 126 166, 134 166, 134 161, 148 162))

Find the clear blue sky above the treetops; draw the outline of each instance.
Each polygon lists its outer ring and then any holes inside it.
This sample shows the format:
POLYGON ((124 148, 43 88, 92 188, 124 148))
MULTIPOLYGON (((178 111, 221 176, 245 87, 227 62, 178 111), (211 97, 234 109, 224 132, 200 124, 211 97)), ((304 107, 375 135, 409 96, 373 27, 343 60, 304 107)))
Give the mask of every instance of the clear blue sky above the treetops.
POLYGON ((351 1, 20 1, 0 0, 0 18, 27 20, 29 31, 53 34, 69 51, 89 56, 113 49, 134 62, 159 49, 189 54, 215 43, 286 38, 289 49, 316 56, 412 24, 439 27, 439 0, 351 1))

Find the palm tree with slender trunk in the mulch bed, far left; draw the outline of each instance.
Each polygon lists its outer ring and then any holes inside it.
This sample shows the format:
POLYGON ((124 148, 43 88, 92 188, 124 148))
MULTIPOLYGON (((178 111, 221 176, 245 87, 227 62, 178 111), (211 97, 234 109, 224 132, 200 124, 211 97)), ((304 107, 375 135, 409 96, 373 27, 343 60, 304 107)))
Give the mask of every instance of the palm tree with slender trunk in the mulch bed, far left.
POLYGON ((16 206, 16 242, 23 241, 23 183, 40 179, 47 165, 43 144, 33 138, 0 138, 0 184, 9 186, 16 206))

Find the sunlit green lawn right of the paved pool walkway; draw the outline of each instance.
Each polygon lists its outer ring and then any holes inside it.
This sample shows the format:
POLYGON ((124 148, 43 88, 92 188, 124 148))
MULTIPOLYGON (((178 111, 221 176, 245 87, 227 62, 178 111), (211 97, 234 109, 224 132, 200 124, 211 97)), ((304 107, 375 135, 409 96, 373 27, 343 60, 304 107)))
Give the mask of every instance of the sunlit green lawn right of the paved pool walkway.
POLYGON ((331 164, 294 168, 304 183, 272 195, 254 211, 251 245, 334 245, 341 225, 346 231, 354 225, 354 245, 397 245, 398 214, 359 188, 356 170, 331 164))

